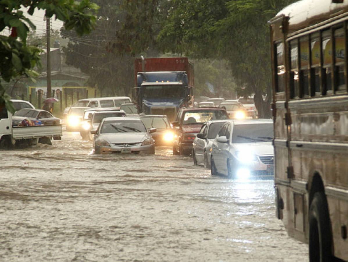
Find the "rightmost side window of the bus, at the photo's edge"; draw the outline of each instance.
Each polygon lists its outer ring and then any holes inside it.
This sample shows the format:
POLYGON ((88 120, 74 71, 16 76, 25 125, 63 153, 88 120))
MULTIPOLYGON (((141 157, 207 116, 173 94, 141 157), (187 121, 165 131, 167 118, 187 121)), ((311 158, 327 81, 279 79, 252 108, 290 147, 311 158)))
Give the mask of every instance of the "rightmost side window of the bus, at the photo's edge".
POLYGON ((335 91, 346 92, 345 39, 343 29, 335 30, 335 91))

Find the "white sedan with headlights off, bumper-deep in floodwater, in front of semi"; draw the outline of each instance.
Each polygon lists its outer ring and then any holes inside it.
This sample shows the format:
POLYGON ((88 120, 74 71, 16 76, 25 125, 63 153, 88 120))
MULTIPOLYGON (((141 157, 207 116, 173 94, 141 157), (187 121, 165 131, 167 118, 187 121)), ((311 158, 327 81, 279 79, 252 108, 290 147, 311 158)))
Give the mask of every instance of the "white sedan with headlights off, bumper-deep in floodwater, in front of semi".
POLYGON ((147 153, 155 154, 155 143, 149 131, 139 118, 106 117, 97 130, 91 130, 94 136, 94 152, 101 153, 147 153))

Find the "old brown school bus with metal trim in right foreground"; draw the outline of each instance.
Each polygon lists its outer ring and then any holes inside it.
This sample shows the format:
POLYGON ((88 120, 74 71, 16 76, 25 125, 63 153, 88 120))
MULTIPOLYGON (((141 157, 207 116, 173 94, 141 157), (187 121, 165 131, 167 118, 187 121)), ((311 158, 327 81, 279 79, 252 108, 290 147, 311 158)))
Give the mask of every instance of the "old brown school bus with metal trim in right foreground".
POLYGON ((276 215, 310 261, 348 261, 348 0, 269 21, 276 215))

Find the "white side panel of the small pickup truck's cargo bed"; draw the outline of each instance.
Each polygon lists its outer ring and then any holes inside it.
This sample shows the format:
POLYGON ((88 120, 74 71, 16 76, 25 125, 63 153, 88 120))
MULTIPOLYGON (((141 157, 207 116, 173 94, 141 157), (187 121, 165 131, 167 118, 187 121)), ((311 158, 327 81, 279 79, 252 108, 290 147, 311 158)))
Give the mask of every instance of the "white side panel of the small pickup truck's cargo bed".
POLYGON ((62 125, 13 126, 13 139, 62 136, 62 125))

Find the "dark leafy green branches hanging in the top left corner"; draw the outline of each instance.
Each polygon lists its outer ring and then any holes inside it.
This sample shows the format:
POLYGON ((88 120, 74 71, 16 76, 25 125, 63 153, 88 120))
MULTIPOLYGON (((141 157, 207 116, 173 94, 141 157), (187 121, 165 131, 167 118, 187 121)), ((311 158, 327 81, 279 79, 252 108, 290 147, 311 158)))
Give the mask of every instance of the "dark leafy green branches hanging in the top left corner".
POLYGON ((98 6, 89 0, 74 2, 73 0, 8 0, 0 3, 0 31, 10 29, 10 36, 0 36, 0 105, 14 111, 10 102, 10 96, 5 93, 2 81, 9 82, 18 76, 35 76, 32 69, 39 66, 39 53, 41 49, 27 44, 27 35, 35 29, 35 25, 26 18, 23 11, 33 15, 35 8, 46 10, 46 17, 52 17, 64 21, 65 29, 75 29, 78 35, 90 33, 95 24, 95 12, 98 6))

